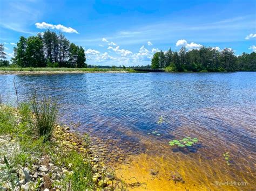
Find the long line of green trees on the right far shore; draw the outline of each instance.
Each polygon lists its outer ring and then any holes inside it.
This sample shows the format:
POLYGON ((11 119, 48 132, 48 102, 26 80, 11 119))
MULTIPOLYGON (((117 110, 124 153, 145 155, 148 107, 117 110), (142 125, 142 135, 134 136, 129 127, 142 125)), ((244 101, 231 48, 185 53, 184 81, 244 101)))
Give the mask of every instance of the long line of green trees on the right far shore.
POLYGON ((233 49, 202 46, 199 49, 187 50, 181 47, 179 51, 169 49, 153 55, 151 68, 166 68, 170 72, 225 72, 225 71, 256 71, 256 53, 234 54, 233 49))

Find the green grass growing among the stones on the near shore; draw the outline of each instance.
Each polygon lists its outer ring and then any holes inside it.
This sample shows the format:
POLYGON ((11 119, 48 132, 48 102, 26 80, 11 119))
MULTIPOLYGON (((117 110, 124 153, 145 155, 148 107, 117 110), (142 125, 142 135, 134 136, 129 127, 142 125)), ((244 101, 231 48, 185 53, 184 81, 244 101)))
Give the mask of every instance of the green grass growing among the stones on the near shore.
MULTIPOLYGON (((38 102, 34 104, 37 103, 38 102)), ((39 114, 46 116, 46 118, 42 120, 48 120, 49 115, 52 114, 51 102, 46 99, 40 107, 46 110, 46 112, 39 114)), ((14 182, 17 181, 17 175, 13 173, 12 169, 17 169, 21 166, 32 169, 32 164, 34 164, 38 158, 41 158, 43 155, 49 155, 52 162, 56 165, 72 171, 72 173, 66 174, 63 181, 56 182, 56 185, 62 186, 63 190, 95 190, 98 186, 92 181, 93 171, 90 159, 87 155, 80 154, 76 150, 65 150, 65 148, 62 148, 53 141, 45 141, 44 136, 38 135, 36 131, 37 127, 32 122, 32 110, 31 104, 26 103, 20 104, 18 112, 14 108, 0 105, 0 135, 11 136, 12 140, 15 140, 20 146, 20 149, 12 158, 6 158, 6 161, 8 161, 8 165, 4 167, 6 169, 4 170, 0 167, 0 176, 6 176, 9 182, 14 184, 14 182)), ((56 115, 55 109, 53 110, 53 115, 56 115)), ((50 125, 55 122, 54 120, 52 121, 52 119, 50 119, 50 121, 50 125)), ((48 124, 48 121, 44 121, 42 124, 44 123, 48 124)), ((1 152, 2 151, 0 151, 0 157, 2 158, 5 154, 1 152)), ((38 185, 39 183, 40 182, 38 182, 38 185)), ((2 182, 0 182, 0 186, 1 185, 2 182)))

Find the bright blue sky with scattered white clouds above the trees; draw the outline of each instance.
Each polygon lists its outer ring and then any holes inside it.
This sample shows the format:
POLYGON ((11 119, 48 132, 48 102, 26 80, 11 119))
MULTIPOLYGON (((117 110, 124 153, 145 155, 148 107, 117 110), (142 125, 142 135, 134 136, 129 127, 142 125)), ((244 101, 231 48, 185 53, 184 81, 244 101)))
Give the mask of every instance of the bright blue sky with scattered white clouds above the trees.
POLYGON ((0 43, 10 59, 20 36, 60 31, 83 46, 87 63, 150 64, 181 46, 256 51, 256 1, 0 0, 0 43))

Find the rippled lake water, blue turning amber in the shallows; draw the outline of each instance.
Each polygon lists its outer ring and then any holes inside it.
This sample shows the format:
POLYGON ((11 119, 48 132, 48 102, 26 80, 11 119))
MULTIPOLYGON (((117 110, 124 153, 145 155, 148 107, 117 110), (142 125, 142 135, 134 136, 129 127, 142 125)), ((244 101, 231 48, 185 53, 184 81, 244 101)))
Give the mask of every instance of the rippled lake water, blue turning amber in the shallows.
POLYGON ((56 99, 59 121, 89 132, 117 176, 145 183, 131 189, 255 188, 256 73, 0 75, 3 102, 15 104, 14 77, 20 101, 56 99), (187 136, 199 142, 169 145, 187 136))

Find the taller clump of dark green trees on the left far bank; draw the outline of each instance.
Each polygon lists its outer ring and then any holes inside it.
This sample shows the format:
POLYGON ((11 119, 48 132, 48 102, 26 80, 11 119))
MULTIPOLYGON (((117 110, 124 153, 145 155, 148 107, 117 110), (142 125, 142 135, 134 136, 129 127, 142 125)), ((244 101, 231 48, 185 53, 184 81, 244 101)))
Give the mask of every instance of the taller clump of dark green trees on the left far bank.
POLYGON ((11 61, 20 67, 87 67, 84 48, 50 30, 20 37, 11 61))

